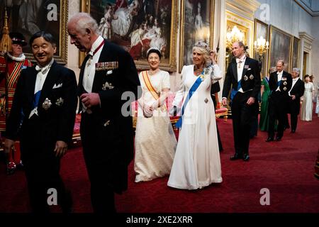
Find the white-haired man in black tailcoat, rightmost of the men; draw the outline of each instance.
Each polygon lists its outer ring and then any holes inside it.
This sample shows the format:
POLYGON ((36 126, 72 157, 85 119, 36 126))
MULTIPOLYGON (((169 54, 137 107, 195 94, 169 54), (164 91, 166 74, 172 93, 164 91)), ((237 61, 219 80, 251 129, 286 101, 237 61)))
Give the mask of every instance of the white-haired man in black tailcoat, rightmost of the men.
POLYGON ((291 72, 292 85, 289 91, 289 111, 291 119, 291 133, 296 132, 298 114, 300 111, 300 98, 305 92, 305 83, 299 78, 300 70, 298 68, 293 68, 291 72))

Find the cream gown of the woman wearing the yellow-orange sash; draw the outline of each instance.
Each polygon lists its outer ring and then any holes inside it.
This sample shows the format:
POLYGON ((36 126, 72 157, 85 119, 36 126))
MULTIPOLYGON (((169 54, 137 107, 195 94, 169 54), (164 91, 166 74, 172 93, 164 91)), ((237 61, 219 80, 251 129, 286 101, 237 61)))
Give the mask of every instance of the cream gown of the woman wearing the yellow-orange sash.
MULTIPOLYGON (((142 101, 151 105, 155 98, 148 91, 139 75, 142 87, 142 101)), ((152 87, 159 92, 164 88, 170 88, 169 73, 159 71, 149 75, 152 87)), ((140 105, 138 105, 138 119, 135 133, 135 182, 150 181, 157 177, 169 175, 172 168, 177 140, 169 120, 165 104, 153 111, 153 116, 145 118, 140 105)))

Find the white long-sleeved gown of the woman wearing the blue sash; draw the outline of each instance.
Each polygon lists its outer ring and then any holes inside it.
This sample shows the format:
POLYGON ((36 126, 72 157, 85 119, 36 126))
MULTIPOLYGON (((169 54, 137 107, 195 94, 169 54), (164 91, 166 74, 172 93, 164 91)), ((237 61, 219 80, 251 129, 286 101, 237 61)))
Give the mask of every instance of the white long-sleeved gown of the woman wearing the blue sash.
MULTIPOLYGON (((216 117, 211 99, 211 70, 194 92, 184 111, 179 141, 167 185, 178 189, 201 189, 211 183, 220 183, 220 155, 216 131, 216 117)), ((218 65, 213 67, 213 78, 221 78, 218 65)), ((194 65, 184 66, 181 71, 181 87, 173 105, 180 106, 198 77, 194 65)))

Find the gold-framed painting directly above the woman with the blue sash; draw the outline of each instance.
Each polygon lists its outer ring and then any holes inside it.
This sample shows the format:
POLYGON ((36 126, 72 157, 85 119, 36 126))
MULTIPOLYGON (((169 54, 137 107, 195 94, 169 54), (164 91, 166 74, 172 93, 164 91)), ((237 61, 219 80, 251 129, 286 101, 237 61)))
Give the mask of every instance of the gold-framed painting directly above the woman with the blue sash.
POLYGON ((181 0, 179 72, 193 64, 192 49, 201 40, 213 46, 214 0, 181 0))

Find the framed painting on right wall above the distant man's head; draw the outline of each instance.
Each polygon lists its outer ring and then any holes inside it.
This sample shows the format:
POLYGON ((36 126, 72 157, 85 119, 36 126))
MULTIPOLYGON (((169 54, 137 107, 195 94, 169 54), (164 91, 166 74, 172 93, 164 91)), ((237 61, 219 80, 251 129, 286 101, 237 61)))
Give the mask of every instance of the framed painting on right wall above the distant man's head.
POLYGON ((289 72, 291 70, 291 46, 293 36, 274 26, 270 26, 269 31, 268 68, 276 66, 276 61, 284 60, 284 70, 289 72))

